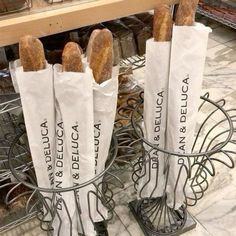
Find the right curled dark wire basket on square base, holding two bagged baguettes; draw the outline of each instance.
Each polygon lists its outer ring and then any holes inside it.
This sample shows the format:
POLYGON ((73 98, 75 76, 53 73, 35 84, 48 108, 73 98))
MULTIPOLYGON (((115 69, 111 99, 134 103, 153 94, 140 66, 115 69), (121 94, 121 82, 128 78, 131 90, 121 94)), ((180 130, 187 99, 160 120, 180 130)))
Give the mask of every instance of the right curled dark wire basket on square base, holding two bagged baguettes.
MULTIPOLYGON (((187 212, 188 206, 195 206, 202 199, 209 188, 209 181, 216 174, 219 165, 234 168, 233 156, 235 152, 235 124, 236 110, 226 110, 225 101, 213 102, 209 94, 201 97, 202 104, 199 108, 201 119, 192 152, 180 154, 171 150, 165 150, 148 142, 143 135, 142 118, 140 109, 143 101, 134 109, 132 114, 132 126, 137 135, 137 142, 141 140, 143 155, 134 165, 133 181, 138 192, 138 200, 129 203, 129 207, 146 236, 180 235, 196 226, 196 222, 187 212), (204 111, 204 113, 202 113, 204 111), (207 113, 207 114, 206 114, 207 113), (203 116, 203 118, 202 118, 203 116), (164 154, 165 167, 163 178, 151 179, 151 165, 156 161, 156 171, 159 171, 159 163, 153 152, 164 154), (173 203, 168 202, 168 179, 170 177, 170 158, 178 158, 178 174, 174 185, 173 203), (184 184, 180 185, 184 195, 183 205, 176 209, 176 189, 181 182, 181 176, 187 177, 184 184), (145 187, 140 188, 140 181, 148 175, 148 181, 144 186, 154 181, 154 186, 163 185, 163 194, 160 197, 144 196, 145 187), (185 176, 184 175, 184 176, 185 176)), ((135 141, 135 140, 134 140, 135 141)))

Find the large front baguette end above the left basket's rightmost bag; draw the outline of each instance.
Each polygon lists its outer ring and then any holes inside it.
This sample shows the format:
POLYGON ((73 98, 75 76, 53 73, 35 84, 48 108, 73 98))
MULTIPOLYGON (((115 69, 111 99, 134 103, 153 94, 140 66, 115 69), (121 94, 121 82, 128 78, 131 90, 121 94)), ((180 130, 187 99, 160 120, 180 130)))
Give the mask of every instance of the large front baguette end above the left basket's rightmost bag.
POLYGON ((90 68, 98 84, 112 77, 113 37, 108 29, 101 30, 93 40, 90 54, 90 68))

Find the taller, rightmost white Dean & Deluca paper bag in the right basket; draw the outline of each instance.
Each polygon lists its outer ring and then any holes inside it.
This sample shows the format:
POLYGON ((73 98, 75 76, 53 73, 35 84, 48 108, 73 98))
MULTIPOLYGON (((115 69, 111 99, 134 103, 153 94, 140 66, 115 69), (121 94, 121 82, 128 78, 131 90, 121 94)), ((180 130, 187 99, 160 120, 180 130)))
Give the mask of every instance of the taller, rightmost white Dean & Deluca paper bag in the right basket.
MULTIPOLYGON (((210 32, 202 24, 173 28, 166 144, 174 152, 191 152, 210 32)), ((188 191, 184 186, 190 167, 187 158, 176 156, 170 156, 169 164, 168 204, 178 209, 188 191)))

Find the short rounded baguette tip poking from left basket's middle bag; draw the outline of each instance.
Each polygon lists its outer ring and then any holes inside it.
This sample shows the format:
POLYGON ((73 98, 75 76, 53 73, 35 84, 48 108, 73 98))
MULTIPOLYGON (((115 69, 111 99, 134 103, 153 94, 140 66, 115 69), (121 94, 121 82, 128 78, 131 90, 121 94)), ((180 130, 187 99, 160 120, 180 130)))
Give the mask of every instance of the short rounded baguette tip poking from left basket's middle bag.
POLYGON ((62 53, 62 70, 67 72, 83 72, 81 48, 77 43, 69 42, 62 53))

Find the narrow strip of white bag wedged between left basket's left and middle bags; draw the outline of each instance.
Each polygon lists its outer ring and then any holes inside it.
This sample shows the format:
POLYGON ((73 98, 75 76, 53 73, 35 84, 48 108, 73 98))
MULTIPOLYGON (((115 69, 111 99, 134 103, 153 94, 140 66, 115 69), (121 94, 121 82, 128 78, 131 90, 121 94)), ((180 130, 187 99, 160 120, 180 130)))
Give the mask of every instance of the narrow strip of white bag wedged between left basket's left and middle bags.
MULTIPOLYGON (((54 78, 57 80, 57 77, 54 78)), ((71 160, 68 155, 67 146, 65 144, 64 124, 61 116, 58 102, 56 106, 56 157, 54 168, 54 188, 62 189, 73 186, 71 178, 71 160)), ((55 202, 57 214, 53 221, 53 235, 78 235, 77 219, 71 216, 74 214, 76 205, 73 191, 57 192, 55 194, 55 202)))

